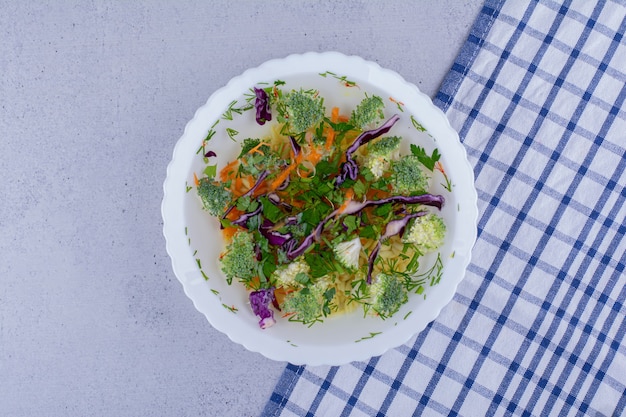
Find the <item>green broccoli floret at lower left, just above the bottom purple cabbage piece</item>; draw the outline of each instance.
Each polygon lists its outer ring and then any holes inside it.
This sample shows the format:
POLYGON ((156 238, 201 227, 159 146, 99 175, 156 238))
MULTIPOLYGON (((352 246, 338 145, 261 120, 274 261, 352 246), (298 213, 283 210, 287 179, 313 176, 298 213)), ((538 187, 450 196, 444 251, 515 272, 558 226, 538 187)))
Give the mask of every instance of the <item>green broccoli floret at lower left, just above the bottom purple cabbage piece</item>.
POLYGON ((221 257, 222 271, 228 282, 237 278, 249 282, 257 275, 257 258, 251 233, 238 231, 221 257))

